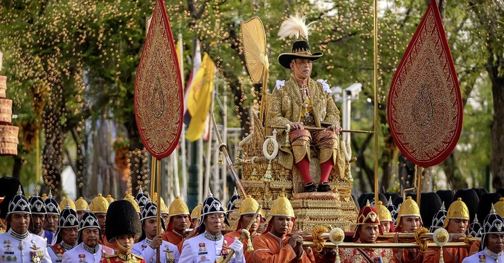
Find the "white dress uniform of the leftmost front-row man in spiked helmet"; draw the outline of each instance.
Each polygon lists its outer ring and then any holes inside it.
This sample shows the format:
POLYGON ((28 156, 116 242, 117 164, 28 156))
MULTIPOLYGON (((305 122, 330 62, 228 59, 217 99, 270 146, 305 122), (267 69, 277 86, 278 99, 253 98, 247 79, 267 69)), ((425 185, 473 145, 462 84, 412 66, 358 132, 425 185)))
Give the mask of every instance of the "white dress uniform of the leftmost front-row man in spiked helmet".
POLYGON ((0 262, 52 262, 44 238, 30 233, 24 238, 17 235, 12 229, 0 234, 0 262))

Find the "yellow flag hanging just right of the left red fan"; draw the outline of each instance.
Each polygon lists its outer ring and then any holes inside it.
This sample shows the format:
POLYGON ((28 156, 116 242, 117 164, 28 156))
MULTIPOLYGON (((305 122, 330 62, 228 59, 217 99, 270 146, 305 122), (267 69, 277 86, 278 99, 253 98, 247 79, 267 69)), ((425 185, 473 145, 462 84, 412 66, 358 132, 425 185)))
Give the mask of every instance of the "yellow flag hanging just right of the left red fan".
POLYGON ((207 53, 204 53, 201 66, 194 80, 189 87, 189 96, 187 98, 187 108, 191 116, 186 139, 190 141, 198 140, 206 125, 206 116, 210 110, 213 92, 213 75, 215 64, 207 53))

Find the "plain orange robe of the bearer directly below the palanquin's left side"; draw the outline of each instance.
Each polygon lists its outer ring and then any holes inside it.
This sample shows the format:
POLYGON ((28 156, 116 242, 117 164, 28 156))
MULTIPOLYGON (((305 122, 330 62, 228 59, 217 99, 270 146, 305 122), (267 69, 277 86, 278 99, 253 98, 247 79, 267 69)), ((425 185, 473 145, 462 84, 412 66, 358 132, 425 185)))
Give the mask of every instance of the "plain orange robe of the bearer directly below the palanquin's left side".
MULTIPOLYGON (((307 255, 303 251, 301 258, 296 258, 296 253, 294 249, 287 245, 289 243, 289 237, 284 237, 280 239, 276 235, 270 232, 264 233, 255 237, 252 240, 252 245, 254 247, 253 251, 253 261, 261 263, 315 263, 315 258, 313 253, 307 255)), ((249 262, 249 261, 247 261, 249 262)))

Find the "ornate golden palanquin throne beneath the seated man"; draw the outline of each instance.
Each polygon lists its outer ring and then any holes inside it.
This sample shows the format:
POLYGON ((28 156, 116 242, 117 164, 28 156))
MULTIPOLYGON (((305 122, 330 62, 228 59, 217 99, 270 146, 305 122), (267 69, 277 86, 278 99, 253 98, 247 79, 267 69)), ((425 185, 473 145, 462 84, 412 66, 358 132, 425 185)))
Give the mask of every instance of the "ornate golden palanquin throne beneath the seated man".
MULTIPOLYGON (((271 209, 272 201, 283 193, 294 208, 297 229, 311 232, 316 226, 324 225, 338 227, 345 231, 354 230, 358 210, 350 195, 353 181, 350 160, 347 161, 343 153, 343 151, 350 152, 347 148, 350 147, 347 146, 348 144, 341 142, 338 147, 336 165, 329 178, 334 192, 303 193, 303 179, 296 165, 287 169, 280 165, 278 156, 271 156, 275 152, 275 143, 272 140, 276 141, 276 139, 271 138, 267 141, 267 138, 274 137, 272 134, 280 131, 272 131, 261 125, 257 112, 253 114, 251 131, 251 135, 240 143, 241 158, 237 158, 235 165, 242 165, 241 181, 246 194, 251 194, 262 205, 266 217, 271 209), (266 155, 269 158, 264 154, 264 147, 268 149, 266 155), (271 179, 265 175, 270 172, 271 179)), ((276 143, 285 146, 285 142, 276 141, 276 143)), ((315 151, 312 151, 311 158, 310 174, 314 181, 318 181, 321 171, 315 151)), ((243 193, 241 195, 243 197, 243 193)), ((230 229, 235 229, 237 220, 240 219, 241 200, 237 200, 235 205, 237 208, 231 212, 230 229)))

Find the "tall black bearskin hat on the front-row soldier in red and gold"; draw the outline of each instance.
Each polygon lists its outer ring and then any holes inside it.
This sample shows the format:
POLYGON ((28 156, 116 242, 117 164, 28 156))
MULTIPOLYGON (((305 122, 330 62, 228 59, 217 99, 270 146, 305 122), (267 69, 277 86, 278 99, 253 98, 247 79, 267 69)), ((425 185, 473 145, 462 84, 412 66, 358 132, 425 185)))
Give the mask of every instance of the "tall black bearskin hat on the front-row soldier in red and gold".
POLYGON ((105 219, 107 239, 114 243, 116 237, 121 235, 133 235, 138 239, 142 233, 140 219, 132 203, 127 200, 118 200, 110 204, 105 219))

